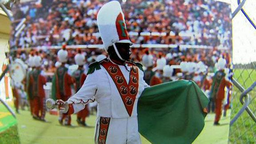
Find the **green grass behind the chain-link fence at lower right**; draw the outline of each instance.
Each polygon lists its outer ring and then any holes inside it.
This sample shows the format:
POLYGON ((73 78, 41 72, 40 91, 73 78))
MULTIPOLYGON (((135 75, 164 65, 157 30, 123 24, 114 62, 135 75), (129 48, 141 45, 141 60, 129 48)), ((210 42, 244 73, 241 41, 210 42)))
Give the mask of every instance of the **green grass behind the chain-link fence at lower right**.
MULTIPOLYGON (((245 89, 250 87, 256 81, 255 69, 235 69, 234 79, 236 79, 245 89)), ((256 115, 256 88, 249 93, 252 102, 249 108, 256 115)), ((236 87, 233 88, 232 113, 231 119, 236 116, 242 108, 240 103, 241 92, 236 87)), ((246 111, 230 127, 229 141, 231 144, 256 144, 256 123, 251 119, 246 111)))

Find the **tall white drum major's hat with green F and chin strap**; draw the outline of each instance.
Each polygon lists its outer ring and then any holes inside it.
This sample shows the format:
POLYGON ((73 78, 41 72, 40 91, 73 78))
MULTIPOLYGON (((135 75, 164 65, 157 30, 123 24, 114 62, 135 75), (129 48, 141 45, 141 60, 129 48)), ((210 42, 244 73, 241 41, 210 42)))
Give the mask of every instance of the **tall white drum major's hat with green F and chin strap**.
POLYGON ((124 13, 120 3, 114 0, 104 4, 98 12, 97 24, 106 52, 108 47, 113 45, 117 56, 123 60, 116 49, 115 43, 128 43, 132 45, 132 42, 128 36, 124 13))

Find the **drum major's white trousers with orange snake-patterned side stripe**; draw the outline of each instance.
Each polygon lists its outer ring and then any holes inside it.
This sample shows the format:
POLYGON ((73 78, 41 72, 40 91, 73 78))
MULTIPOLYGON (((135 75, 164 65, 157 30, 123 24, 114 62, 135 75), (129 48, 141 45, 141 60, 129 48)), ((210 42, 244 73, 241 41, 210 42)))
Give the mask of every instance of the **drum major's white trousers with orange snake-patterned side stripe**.
POLYGON ((95 144, 141 144, 137 116, 97 117, 95 127, 95 144))

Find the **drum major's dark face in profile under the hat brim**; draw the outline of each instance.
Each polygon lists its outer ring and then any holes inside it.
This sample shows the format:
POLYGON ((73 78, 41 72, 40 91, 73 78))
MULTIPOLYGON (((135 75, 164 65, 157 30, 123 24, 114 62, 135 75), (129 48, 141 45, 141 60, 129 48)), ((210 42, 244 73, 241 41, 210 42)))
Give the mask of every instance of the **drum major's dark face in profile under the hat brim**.
POLYGON ((117 48, 120 56, 124 60, 130 60, 130 56, 132 54, 130 44, 128 44, 128 43, 116 43, 116 48, 117 48))

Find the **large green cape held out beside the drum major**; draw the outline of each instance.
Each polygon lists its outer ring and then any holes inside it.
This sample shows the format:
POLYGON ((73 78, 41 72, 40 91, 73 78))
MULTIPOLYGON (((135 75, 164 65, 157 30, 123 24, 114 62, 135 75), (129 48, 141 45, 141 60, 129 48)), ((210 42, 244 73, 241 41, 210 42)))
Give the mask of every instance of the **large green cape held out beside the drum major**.
POLYGON ((152 144, 191 144, 204 128, 208 103, 193 81, 146 88, 138 102, 139 132, 152 144))

